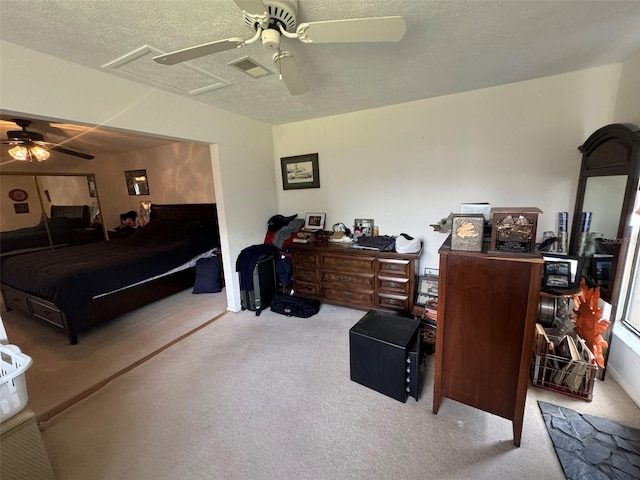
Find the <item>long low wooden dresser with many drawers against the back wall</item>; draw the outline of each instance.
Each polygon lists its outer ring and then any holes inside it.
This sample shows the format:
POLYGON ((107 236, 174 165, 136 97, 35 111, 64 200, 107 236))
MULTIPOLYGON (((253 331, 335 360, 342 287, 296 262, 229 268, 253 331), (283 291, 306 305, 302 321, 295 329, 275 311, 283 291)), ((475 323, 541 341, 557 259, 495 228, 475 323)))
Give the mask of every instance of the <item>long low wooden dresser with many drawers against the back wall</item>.
POLYGON ((420 253, 358 250, 345 244, 293 245, 296 294, 362 310, 409 315, 420 253))

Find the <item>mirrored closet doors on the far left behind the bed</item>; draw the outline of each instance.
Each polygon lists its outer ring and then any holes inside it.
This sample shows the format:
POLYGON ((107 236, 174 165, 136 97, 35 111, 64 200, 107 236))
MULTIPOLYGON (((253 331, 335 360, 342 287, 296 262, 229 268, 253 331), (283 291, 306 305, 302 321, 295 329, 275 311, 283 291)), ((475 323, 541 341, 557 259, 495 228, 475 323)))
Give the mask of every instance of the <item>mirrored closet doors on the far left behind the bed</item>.
POLYGON ((107 239, 93 174, 0 172, 0 249, 107 239))

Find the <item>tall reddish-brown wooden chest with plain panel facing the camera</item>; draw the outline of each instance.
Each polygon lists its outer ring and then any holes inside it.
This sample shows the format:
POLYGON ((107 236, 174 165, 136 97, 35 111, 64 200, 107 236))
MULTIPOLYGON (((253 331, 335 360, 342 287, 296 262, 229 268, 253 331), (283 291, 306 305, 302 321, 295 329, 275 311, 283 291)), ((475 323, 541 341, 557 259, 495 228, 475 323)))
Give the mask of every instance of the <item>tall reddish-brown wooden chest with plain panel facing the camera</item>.
POLYGON ((543 263, 442 246, 434 413, 442 397, 493 413, 520 446, 543 263))

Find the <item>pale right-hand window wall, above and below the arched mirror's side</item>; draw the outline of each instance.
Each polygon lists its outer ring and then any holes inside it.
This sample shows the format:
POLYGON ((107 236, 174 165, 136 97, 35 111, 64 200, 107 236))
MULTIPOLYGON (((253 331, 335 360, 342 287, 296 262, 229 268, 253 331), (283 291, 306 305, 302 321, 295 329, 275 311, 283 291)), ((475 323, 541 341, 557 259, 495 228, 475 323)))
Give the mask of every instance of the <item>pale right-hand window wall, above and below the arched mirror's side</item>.
MULTIPOLYGON (((615 123, 640 125, 640 51, 627 58, 622 65, 615 123)), ((630 272, 625 272, 629 274, 630 272)), ((624 282, 623 282, 624 283, 624 282)), ((621 309, 620 309, 621 310, 621 309)), ((618 312, 620 315, 622 312, 618 312)), ((640 405, 640 338, 616 319, 611 338, 607 372, 640 405)))

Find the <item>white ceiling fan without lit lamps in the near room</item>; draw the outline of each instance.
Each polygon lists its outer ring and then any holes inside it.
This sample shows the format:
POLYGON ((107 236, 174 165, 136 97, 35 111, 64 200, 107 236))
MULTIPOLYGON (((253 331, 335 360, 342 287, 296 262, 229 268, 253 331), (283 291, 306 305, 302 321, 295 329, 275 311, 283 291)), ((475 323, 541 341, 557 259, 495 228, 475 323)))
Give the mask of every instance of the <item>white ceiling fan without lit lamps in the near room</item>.
POLYGON ((227 38, 153 57, 163 65, 175 65, 205 55, 244 47, 261 40, 274 50, 273 61, 291 95, 309 90, 291 52, 281 50, 281 36, 303 43, 398 42, 407 31, 401 16, 353 18, 298 24, 298 0, 234 0, 242 10, 244 23, 255 34, 249 39, 227 38))

